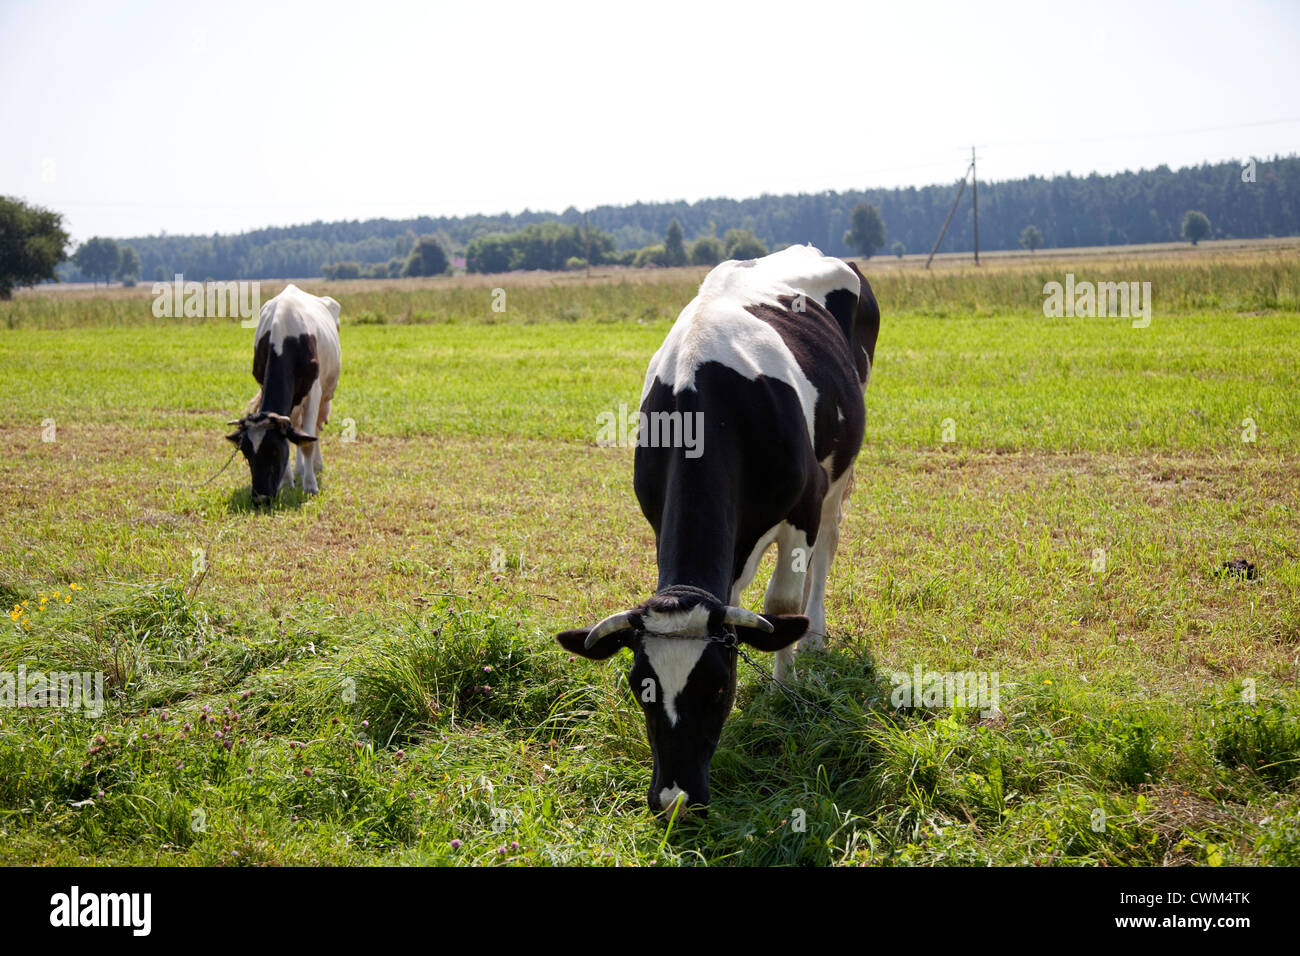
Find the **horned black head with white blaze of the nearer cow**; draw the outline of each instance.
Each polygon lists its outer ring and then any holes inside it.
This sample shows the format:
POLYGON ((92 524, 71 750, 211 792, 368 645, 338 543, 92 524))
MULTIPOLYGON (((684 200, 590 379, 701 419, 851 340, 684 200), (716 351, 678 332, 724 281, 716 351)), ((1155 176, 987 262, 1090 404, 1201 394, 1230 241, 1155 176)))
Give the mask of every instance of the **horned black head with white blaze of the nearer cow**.
POLYGON ((736 700, 738 644, 780 650, 807 628, 803 615, 759 617, 679 585, 556 640, 593 661, 632 650, 628 683, 645 711, 654 757, 650 809, 671 812, 680 804, 686 813, 708 805, 708 765, 736 700))

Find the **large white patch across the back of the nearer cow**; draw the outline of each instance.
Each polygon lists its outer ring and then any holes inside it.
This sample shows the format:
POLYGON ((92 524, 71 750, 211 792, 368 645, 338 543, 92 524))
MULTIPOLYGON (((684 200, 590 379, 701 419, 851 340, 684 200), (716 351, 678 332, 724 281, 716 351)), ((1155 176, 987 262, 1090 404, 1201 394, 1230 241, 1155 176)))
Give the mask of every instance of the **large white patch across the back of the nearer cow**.
POLYGON ((655 378, 677 394, 696 386, 696 369, 701 364, 718 362, 750 381, 767 376, 794 389, 811 440, 816 389, 776 329, 746 311, 746 306, 780 308, 783 295, 805 295, 824 306, 832 291, 857 291, 858 286, 853 269, 812 246, 790 246, 748 265, 734 260, 718 265, 705 276, 699 294, 677 316, 650 360, 641 405, 655 378))

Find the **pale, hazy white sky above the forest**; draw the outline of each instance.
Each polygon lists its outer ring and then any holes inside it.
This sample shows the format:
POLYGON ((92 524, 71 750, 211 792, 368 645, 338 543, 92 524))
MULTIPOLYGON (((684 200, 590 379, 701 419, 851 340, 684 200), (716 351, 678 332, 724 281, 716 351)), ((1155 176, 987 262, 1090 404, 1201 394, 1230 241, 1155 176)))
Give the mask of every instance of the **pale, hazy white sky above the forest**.
POLYGON ((1300 3, 0 0, 73 238, 1300 151, 1300 3))

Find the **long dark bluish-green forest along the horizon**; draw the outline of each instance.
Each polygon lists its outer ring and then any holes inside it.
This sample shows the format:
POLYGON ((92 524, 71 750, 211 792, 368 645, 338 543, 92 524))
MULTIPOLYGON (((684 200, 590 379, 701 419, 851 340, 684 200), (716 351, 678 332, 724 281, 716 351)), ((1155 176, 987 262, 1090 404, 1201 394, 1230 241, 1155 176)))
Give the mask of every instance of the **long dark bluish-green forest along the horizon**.
MULTIPOLYGON (((878 252, 927 252, 957 195, 957 179, 924 187, 867 189, 845 193, 762 195, 750 199, 703 199, 696 203, 601 206, 584 215, 525 209, 517 215, 408 220, 312 222, 257 229, 237 235, 151 235, 120 238, 139 256, 139 278, 156 281, 183 273, 192 280, 304 278, 337 264, 359 264, 358 274, 402 274, 421 237, 434 237, 448 261, 469 256, 469 268, 572 267, 633 263, 637 250, 663 243, 676 220, 686 242, 736 230, 751 233, 775 248, 811 242, 831 255, 850 255, 845 230, 853 208, 870 203, 880 212, 885 245, 878 252), (556 229, 560 224, 567 229, 556 229), (577 229, 575 229, 577 228, 577 229), (528 230, 530 237, 512 234, 528 230), (581 232, 581 235, 580 235, 581 232), (896 243, 901 243, 896 245, 896 243), (526 245, 526 248, 523 246, 526 245), (511 248, 516 251, 512 252, 511 248)), ((1026 226, 1043 246, 1117 246, 1182 238, 1190 209, 1209 219, 1208 238, 1258 238, 1300 233, 1300 156, 1202 164, 1183 169, 1157 166, 1113 176, 1030 177, 979 183, 980 247, 1015 248, 1026 226)), ((970 190, 944 239, 945 251, 972 246, 970 190)), ((654 255, 642 256, 654 263, 654 255)), ((65 280, 84 278, 72 261, 65 280)))

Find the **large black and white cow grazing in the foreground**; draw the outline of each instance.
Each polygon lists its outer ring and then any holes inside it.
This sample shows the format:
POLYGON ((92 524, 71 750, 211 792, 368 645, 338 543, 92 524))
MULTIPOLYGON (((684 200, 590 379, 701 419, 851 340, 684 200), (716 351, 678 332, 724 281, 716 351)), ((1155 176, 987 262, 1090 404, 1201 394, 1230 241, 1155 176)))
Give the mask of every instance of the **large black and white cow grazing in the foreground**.
POLYGON ((633 652, 651 810, 707 806, 737 641, 776 652, 780 680, 794 676, 794 641, 823 644, 879 329, 857 267, 794 246, 710 272, 650 362, 633 484, 655 532, 656 593, 556 640, 593 659, 633 652), (774 542, 759 617, 738 604, 774 542))

